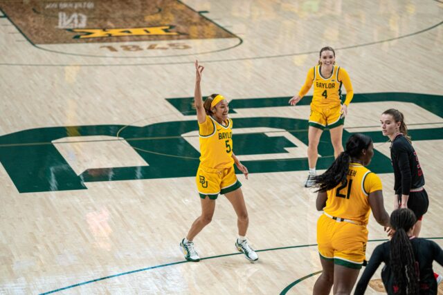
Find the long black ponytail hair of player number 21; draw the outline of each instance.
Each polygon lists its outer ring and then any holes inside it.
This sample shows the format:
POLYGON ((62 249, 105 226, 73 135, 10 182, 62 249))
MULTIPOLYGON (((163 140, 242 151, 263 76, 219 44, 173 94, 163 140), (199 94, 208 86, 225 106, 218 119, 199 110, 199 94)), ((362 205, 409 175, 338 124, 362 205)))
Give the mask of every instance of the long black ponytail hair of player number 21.
POLYGON ((363 149, 368 149, 372 139, 368 135, 356 133, 351 135, 346 142, 346 149, 332 163, 332 165, 321 175, 314 177, 314 187, 318 191, 334 189, 339 183, 346 184, 347 171, 351 158, 359 158, 363 149))

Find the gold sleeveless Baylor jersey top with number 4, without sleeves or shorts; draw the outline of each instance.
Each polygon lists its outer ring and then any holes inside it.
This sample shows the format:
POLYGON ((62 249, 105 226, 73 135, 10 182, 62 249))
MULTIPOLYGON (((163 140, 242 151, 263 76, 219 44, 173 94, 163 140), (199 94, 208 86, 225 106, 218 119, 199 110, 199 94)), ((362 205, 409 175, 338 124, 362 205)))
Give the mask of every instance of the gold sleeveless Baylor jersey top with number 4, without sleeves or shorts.
POLYGON ((323 77, 320 66, 314 67, 314 95, 312 104, 316 106, 337 106, 341 103, 341 82, 338 82, 339 66, 334 66, 331 77, 323 77))

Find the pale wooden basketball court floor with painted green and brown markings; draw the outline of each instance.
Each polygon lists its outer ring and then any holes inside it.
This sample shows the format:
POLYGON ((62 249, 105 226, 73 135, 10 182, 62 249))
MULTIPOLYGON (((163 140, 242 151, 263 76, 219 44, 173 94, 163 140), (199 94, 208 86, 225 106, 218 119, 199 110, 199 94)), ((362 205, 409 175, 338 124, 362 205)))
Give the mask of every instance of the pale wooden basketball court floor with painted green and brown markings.
MULTIPOLYGON (((443 247, 442 15, 440 0, 0 0, 0 294, 311 294, 312 90, 288 100, 323 46, 354 87, 343 140, 373 138, 389 212, 379 116, 404 113, 430 198, 421 236, 443 247), (179 250, 200 213, 195 59, 203 95, 230 100, 257 263, 224 196, 195 238, 203 259, 179 250)), ((322 171, 328 131, 319 154, 322 171)), ((368 229, 367 258, 386 239, 368 229)))

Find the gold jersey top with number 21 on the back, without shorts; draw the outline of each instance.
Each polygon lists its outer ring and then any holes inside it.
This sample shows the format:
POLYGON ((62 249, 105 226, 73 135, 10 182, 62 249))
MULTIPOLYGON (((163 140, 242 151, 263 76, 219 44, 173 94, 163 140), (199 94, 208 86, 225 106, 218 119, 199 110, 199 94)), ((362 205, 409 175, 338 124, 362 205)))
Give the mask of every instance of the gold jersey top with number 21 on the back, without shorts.
POLYGON ((370 214, 369 194, 381 190, 377 174, 361 164, 350 163, 345 185, 327 191, 325 213, 368 224, 370 214))

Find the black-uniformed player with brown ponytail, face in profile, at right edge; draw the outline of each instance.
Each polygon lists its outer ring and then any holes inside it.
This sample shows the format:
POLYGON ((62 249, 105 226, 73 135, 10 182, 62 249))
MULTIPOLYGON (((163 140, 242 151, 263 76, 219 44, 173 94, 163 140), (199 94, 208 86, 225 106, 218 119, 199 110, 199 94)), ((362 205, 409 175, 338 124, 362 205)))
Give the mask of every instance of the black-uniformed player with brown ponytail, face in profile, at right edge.
POLYGON ((414 236, 418 236, 422 228, 422 217, 428 211, 428 194, 424 190, 424 176, 419 164, 417 153, 408 137, 408 129, 401 112, 390 108, 381 114, 383 135, 389 137, 390 158, 395 177, 394 209, 399 207, 411 209, 417 218, 414 236))

